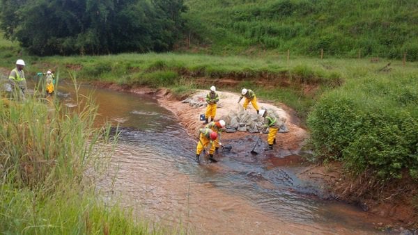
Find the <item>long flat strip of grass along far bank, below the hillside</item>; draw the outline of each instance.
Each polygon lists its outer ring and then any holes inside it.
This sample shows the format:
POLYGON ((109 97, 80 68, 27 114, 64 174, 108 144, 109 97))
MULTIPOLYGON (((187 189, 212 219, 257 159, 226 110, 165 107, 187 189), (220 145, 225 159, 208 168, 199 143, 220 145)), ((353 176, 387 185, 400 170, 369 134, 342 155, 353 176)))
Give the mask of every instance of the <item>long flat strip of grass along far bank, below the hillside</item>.
MULTIPOLYGON (((0 60, 1 62, 1 60, 0 60)), ((196 79, 208 81, 234 79, 236 87, 226 90, 239 91, 242 87, 252 88, 261 99, 271 99, 294 108, 305 120, 307 113, 323 92, 343 83, 356 83, 357 79, 370 76, 398 79, 416 72, 417 63, 403 67, 398 60, 382 60, 371 63, 366 59, 307 58, 291 56, 210 56, 199 54, 119 54, 113 56, 52 56, 31 58, 26 66, 28 77, 36 72, 52 68, 65 72, 75 70, 84 81, 114 82, 129 86, 168 87, 182 97, 186 90, 206 88, 196 79), (379 70, 391 62, 390 72, 379 70), (255 81, 264 78, 265 86, 255 81)), ((13 64, 10 62, 9 64, 13 64)), ((8 66, 6 64, 0 64, 8 66)), ((10 67, 10 66, 9 66, 10 67)), ((66 74, 66 73, 64 73, 66 74)), ((67 78, 68 79, 68 78, 67 78)), ((216 85, 216 84, 215 84, 216 85)), ((221 86, 222 87, 222 86, 221 86)))

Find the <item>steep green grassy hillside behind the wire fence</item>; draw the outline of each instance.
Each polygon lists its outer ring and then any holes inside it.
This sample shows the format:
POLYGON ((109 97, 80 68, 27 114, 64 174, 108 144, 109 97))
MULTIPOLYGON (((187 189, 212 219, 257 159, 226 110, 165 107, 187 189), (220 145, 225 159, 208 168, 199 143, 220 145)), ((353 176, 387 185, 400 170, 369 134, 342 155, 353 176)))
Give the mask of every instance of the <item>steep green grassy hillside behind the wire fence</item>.
POLYGON ((418 1, 188 0, 192 42, 303 55, 418 60, 418 1), (196 42, 196 40, 199 40, 196 42))

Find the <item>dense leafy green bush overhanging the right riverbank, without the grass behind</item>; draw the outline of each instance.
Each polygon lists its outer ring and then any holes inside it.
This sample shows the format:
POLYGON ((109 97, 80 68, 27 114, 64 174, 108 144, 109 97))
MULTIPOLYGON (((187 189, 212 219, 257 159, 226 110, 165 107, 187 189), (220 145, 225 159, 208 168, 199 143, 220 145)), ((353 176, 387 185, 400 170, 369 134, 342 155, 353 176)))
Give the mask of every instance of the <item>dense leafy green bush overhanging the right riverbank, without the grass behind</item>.
POLYGON ((314 106, 307 123, 316 157, 341 160, 354 175, 367 170, 385 180, 406 169, 418 179, 417 118, 356 95, 331 92, 314 106))

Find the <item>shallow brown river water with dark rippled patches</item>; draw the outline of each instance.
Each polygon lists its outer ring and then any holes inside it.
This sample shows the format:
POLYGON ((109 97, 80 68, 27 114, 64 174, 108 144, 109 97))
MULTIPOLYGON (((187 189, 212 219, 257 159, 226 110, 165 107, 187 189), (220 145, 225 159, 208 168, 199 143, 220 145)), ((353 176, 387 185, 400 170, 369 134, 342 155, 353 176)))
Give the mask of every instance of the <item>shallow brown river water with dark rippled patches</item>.
MULTIPOLYGON (((252 146, 242 140, 230 143, 233 149, 219 163, 199 164, 196 141, 155 99, 100 89, 94 97, 100 119, 121 125, 100 193, 139 216, 192 234, 378 233, 368 213, 323 200, 317 196, 323 194, 320 186, 298 179, 293 156, 293 166, 281 156, 265 161, 268 156, 248 154, 252 146)), ((70 98, 63 103, 74 104, 70 98)))

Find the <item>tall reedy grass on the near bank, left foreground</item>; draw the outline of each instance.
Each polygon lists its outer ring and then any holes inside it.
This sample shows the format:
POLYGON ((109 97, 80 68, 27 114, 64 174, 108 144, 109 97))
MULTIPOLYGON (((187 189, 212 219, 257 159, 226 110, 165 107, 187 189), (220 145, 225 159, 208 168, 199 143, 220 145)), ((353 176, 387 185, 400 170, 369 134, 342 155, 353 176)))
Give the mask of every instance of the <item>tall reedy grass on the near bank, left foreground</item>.
MULTIPOLYGON (((43 93, 42 93, 43 94, 43 93)), ((4 234, 146 234, 145 222, 95 195, 116 138, 93 127, 97 106, 0 99, 0 231, 4 234), (106 148, 106 149, 104 149, 106 148)))

